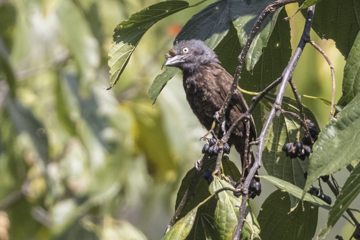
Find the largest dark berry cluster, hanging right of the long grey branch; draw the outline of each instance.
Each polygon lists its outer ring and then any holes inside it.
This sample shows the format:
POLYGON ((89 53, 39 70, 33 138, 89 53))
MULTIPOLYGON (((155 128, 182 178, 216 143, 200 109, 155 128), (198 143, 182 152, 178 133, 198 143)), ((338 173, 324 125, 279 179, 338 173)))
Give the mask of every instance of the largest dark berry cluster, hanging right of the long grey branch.
POLYGON ((286 142, 282 148, 285 152, 286 157, 300 158, 305 160, 306 157, 309 157, 311 153, 311 139, 316 141, 318 139, 318 130, 316 129, 315 123, 311 120, 306 119, 307 127, 309 128, 310 136, 305 136, 302 138, 301 142, 286 142), (311 137, 311 139, 310 139, 311 137))

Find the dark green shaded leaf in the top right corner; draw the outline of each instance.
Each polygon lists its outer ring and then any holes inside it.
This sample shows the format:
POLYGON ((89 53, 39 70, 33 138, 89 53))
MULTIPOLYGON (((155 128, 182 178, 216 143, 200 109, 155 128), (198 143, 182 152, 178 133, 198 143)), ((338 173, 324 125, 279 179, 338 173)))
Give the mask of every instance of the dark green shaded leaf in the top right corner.
POLYGON ((312 29, 321 39, 333 39, 345 58, 354 44, 359 26, 360 1, 323 0, 315 6, 312 29))

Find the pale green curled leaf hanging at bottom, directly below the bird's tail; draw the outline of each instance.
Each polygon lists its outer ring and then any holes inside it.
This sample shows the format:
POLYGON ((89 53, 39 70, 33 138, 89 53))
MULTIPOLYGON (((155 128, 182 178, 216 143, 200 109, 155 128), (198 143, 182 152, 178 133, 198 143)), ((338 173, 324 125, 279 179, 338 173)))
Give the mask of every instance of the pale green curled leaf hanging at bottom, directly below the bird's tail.
MULTIPOLYGON (((219 190, 223 187, 234 188, 228 184, 228 182, 215 177, 209 186, 209 191, 215 192, 216 190, 219 190)), ((215 228, 219 232, 222 240, 232 239, 236 226, 238 225, 238 206, 241 205, 242 198, 235 197, 233 192, 228 190, 221 191, 219 194, 217 194, 217 199, 214 219, 215 228)), ((248 204, 245 212, 245 219, 246 222, 244 222, 244 226, 241 230, 242 239, 252 239, 252 233, 255 234, 253 239, 260 239, 258 237, 260 228, 258 226, 255 215, 252 213, 248 204)))

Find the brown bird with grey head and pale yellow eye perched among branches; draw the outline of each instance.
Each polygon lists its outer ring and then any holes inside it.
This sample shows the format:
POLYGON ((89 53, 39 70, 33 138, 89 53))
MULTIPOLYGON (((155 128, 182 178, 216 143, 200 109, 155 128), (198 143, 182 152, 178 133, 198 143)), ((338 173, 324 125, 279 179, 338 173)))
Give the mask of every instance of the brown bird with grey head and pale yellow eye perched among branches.
MULTIPOLYGON (((177 67, 183 72, 186 99, 200 123, 209 131, 216 112, 220 110, 230 91, 233 76, 221 66, 216 53, 198 39, 178 41, 165 55, 165 58, 165 66, 177 67)), ((238 89, 235 89, 225 112, 225 131, 247 109, 248 105, 244 96, 238 89)), ((256 139, 255 123, 252 117, 249 121, 250 140, 253 140, 256 139)), ((245 126, 244 121, 240 122, 228 140, 229 145, 234 145, 240 154, 242 164, 246 139, 245 126)), ((220 139, 223 132, 219 131, 218 134, 217 138, 220 139)), ((252 162, 254 160, 252 156, 252 162)))

